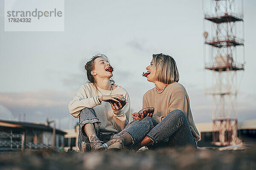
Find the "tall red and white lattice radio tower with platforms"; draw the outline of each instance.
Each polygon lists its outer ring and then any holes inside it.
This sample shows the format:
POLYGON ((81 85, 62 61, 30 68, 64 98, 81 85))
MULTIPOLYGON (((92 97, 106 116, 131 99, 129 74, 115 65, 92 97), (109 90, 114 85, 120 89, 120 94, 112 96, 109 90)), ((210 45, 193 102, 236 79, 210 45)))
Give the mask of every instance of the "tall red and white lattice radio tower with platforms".
POLYGON ((221 146, 240 142, 237 137, 236 98, 237 71, 244 71, 244 20, 242 2, 240 12, 234 12, 237 9, 234 5, 234 0, 210 0, 210 7, 207 6, 209 13, 204 11, 204 21, 211 25, 209 37, 208 32, 204 32, 204 68, 212 74, 212 87, 205 93, 212 95, 215 105, 212 141, 221 146), (236 23, 241 23, 242 28, 238 29, 236 23), (241 38, 236 37, 238 30, 242 32, 241 38), (243 47, 241 55, 236 51, 239 46, 243 47))

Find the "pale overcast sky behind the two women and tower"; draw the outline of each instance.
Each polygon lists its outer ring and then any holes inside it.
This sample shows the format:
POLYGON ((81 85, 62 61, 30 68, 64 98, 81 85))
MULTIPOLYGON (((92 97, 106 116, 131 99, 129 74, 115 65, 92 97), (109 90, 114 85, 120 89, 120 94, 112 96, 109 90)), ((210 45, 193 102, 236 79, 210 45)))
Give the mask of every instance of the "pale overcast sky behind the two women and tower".
MULTIPOLYGON (((256 1, 244 1, 245 71, 239 74, 238 118, 256 119, 256 1), (254 77, 254 78, 253 78, 254 77)), ((195 122, 212 121, 212 98, 204 96, 201 0, 65 0, 65 31, 5 32, 0 0, 0 119, 45 122, 68 128, 68 102, 86 83, 83 65, 103 53, 113 79, 139 111, 154 84, 141 77, 152 54, 175 58, 195 122), (60 123, 61 122, 61 123, 60 123)), ((72 118, 73 125, 78 119, 72 118)), ((72 126, 73 126, 72 125, 72 126)))

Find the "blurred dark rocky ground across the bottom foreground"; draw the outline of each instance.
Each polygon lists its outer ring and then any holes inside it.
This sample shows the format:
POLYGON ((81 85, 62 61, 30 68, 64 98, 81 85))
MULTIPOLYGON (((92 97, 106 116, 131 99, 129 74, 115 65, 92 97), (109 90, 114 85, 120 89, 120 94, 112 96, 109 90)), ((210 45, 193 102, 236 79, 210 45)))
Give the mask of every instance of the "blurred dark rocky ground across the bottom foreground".
POLYGON ((256 147, 245 150, 166 148, 140 153, 51 150, 0 153, 1 170, 256 170, 256 147))

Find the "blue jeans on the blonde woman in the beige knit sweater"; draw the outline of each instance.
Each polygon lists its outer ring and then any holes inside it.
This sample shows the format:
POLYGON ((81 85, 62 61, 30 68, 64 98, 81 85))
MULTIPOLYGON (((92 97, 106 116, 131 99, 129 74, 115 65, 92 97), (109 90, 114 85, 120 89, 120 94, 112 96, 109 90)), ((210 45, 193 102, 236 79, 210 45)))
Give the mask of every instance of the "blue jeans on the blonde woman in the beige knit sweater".
POLYGON ((154 142, 153 145, 148 146, 149 149, 186 145, 197 147, 189 122, 183 111, 180 110, 171 111, 160 123, 151 117, 134 120, 113 138, 121 136, 123 133, 128 133, 131 136, 133 144, 141 142, 147 136, 154 142))

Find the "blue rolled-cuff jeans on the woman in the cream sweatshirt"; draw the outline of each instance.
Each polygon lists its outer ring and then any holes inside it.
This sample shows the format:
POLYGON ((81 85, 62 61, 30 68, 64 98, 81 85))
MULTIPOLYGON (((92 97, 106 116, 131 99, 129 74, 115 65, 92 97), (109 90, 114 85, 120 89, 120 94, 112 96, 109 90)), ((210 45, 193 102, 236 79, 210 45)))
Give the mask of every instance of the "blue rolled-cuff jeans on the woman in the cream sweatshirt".
POLYGON ((80 150, 82 142, 90 143, 89 137, 84 132, 84 125, 87 123, 92 123, 94 125, 96 136, 104 143, 108 142, 111 139, 111 136, 115 134, 114 132, 111 134, 100 133, 99 126, 101 125, 101 122, 96 117, 95 111, 92 108, 84 108, 83 110, 81 110, 81 113, 79 115, 78 147, 80 150))

